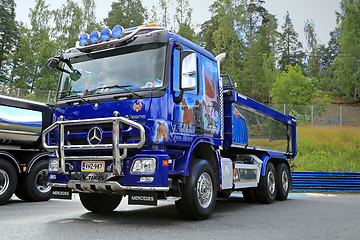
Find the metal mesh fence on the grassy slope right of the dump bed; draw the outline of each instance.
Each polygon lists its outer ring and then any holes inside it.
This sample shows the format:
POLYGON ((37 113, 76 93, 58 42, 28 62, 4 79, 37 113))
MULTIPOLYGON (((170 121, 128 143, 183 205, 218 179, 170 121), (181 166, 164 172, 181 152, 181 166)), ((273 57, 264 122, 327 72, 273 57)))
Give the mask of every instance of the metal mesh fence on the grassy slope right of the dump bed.
POLYGON ((360 127, 360 107, 347 105, 303 106, 271 105, 272 108, 297 118, 298 124, 312 126, 360 127))

